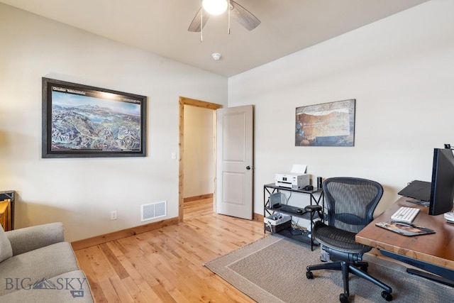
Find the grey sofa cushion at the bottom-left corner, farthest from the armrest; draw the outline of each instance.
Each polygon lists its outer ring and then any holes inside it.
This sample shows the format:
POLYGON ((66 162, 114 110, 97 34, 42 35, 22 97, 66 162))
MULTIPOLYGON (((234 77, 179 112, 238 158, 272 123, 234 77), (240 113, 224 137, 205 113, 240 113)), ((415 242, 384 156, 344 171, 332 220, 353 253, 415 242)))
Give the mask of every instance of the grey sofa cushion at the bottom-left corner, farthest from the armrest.
POLYGON ((0 297, 0 302, 92 303, 87 277, 81 270, 46 278, 36 287, 26 287, 0 297))

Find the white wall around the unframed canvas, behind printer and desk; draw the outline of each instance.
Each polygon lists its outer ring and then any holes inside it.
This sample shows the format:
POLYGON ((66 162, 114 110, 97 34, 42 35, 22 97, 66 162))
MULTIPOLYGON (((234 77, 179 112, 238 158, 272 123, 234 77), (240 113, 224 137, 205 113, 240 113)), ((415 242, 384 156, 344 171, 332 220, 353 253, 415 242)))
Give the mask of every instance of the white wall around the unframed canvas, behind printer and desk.
POLYGON ((454 1, 433 0, 228 79, 228 106, 255 104, 255 206, 292 164, 384 186, 378 211, 431 180, 454 143, 454 1), (295 109, 356 99, 354 147, 295 147, 295 109))

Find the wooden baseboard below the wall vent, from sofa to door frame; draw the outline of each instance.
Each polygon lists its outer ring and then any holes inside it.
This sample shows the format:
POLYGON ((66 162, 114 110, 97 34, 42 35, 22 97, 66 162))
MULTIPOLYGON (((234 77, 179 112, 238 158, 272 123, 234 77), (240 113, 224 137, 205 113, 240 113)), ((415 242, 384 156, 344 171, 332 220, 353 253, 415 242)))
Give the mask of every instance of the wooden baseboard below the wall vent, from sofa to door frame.
POLYGON ((87 238, 79 241, 71 242, 72 249, 79 250, 82 248, 87 248, 90 246, 96 246, 102 243, 115 241, 121 238, 126 238, 128 236, 134 236, 138 233, 145 233, 146 231, 154 231, 155 229, 162 228, 165 226, 175 225, 178 223, 178 218, 171 218, 167 220, 162 220, 159 222, 153 222, 150 224, 144 224, 140 226, 135 226, 131 228, 126 228, 121 231, 114 231, 112 233, 106 233, 101 236, 95 236, 92 238, 87 238))

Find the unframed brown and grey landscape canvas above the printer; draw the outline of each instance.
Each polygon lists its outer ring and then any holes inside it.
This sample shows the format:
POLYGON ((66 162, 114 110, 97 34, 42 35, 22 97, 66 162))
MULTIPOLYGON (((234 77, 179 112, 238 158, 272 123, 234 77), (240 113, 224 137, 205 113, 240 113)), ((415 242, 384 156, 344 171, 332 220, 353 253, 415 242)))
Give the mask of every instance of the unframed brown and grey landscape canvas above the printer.
POLYGON ((295 146, 354 146, 355 99, 297 107, 295 146))

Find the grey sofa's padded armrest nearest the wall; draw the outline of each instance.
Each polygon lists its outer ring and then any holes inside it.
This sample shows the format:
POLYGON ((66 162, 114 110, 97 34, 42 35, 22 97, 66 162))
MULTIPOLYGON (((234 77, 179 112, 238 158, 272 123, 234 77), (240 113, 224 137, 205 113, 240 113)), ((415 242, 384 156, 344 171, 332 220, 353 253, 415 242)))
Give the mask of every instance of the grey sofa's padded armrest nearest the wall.
POLYGON ((65 241, 61 222, 42 224, 6 231, 13 255, 20 255, 37 248, 65 241))

